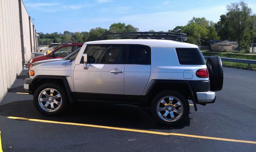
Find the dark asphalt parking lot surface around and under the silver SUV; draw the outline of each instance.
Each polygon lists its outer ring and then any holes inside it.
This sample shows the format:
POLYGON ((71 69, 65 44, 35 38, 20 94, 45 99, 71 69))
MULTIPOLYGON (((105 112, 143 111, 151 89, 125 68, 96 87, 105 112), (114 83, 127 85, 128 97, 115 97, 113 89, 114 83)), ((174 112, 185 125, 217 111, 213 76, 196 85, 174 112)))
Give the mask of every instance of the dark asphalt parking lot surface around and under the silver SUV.
POLYGON ((124 105, 76 103, 61 116, 42 116, 23 89, 26 72, 0 103, 0 151, 255 151, 256 71, 225 67, 216 103, 197 112, 190 106, 177 128, 124 105))

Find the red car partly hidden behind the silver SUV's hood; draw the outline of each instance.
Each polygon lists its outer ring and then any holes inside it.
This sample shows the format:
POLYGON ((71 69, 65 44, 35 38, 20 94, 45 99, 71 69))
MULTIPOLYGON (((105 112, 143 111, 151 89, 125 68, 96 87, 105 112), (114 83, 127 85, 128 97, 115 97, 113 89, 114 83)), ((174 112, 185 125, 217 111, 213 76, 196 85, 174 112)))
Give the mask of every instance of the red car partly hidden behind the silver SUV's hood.
POLYGON ((60 47, 55 48, 50 54, 31 59, 28 65, 28 68, 30 68, 30 65, 32 63, 37 61, 64 58, 68 56, 70 53, 72 53, 74 50, 82 47, 82 45, 83 43, 71 43, 71 44, 61 45, 60 47))

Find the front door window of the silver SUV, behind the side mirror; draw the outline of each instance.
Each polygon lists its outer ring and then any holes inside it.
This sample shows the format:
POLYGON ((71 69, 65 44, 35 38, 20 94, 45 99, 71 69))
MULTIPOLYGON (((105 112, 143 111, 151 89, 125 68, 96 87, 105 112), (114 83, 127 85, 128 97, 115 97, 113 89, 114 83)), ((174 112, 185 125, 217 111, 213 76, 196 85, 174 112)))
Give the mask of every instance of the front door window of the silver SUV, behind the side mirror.
POLYGON ((123 63, 122 45, 88 45, 84 53, 89 55, 89 63, 91 64, 123 63))

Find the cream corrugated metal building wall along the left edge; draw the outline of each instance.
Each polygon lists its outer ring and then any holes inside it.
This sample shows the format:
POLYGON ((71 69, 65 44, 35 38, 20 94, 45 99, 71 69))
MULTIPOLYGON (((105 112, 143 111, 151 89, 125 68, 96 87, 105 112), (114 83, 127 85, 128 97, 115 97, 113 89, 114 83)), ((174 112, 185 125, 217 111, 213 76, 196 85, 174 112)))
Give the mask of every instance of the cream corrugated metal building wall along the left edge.
POLYGON ((31 47, 33 52, 36 49, 36 32, 33 27, 22 0, 0 1, 0 100, 15 81, 16 75, 22 71, 23 60, 31 59, 31 47), (23 29, 20 29, 19 12, 22 12, 23 29))

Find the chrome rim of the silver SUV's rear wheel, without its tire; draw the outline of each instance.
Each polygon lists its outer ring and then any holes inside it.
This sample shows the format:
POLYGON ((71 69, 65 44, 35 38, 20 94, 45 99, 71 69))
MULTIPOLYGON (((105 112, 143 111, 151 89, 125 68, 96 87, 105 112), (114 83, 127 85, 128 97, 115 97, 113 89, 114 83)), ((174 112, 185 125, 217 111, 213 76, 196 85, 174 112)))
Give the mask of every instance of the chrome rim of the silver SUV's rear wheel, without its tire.
POLYGON ((164 96, 157 103, 158 116, 167 122, 177 121, 183 114, 183 105, 175 96, 164 96))

